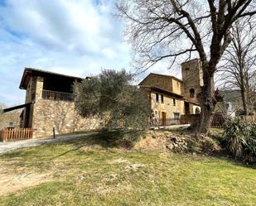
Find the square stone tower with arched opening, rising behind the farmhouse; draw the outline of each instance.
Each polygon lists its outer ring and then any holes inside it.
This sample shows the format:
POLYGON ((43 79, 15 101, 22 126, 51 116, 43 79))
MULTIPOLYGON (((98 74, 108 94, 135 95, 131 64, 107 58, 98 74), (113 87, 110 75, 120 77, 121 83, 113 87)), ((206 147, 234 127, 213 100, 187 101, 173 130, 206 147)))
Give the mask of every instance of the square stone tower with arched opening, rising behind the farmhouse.
POLYGON ((197 94, 203 83, 203 71, 199 59, 186 61, 181 64, 183 95, 192 102, 199 102, 197 94))

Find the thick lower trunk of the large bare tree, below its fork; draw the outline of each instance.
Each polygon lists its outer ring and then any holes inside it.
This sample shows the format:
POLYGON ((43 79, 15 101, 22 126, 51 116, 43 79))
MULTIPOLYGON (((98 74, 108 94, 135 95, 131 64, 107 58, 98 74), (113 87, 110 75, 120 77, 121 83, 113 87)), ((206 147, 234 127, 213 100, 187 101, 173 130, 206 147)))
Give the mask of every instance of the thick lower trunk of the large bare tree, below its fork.
POLYGON ((208 135, 210 124, 215 112, 215 83, 214 77, 204 77, 204 87, 200 93, 200 122, 196 130, 196 136, 199 134, 208 135))

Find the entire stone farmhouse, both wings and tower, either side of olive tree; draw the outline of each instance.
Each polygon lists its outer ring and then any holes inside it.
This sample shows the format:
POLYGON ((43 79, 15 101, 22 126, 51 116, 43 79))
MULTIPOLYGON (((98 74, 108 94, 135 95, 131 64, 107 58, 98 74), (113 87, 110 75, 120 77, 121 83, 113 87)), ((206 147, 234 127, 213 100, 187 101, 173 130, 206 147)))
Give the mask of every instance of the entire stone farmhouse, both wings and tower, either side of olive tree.
MULTIPOLYGON (((197 93, 202 85, 200 60, 181 65, 182 80, 163 74, 149 74, 139 84, 150 100, 152 123, 178 123, 182 114, 200 113, 197 93)), ((53 133, 76 132, 100 127, 96 118, 84 118, 75 110, 72 86, 82 78, 57 74, 41 69, 25 68, 20 89, 26 90, 25 103, 4 109, 9 112, 22 108, 22 128, 33 128, 33 137, 47 137, 53 133)))

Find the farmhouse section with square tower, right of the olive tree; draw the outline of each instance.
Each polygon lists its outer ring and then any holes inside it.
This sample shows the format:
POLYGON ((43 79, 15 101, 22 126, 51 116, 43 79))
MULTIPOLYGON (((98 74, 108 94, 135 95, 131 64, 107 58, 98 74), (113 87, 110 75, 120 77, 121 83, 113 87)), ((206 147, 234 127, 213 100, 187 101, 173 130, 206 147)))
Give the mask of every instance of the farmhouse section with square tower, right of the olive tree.
POLYGON ((171 75, 149 74, 139 84, 147 93, 153 125, 179 123, 181 115, 200 113, 198 93, 203 85, 200 60, 181 64, 182 80, 171 75))

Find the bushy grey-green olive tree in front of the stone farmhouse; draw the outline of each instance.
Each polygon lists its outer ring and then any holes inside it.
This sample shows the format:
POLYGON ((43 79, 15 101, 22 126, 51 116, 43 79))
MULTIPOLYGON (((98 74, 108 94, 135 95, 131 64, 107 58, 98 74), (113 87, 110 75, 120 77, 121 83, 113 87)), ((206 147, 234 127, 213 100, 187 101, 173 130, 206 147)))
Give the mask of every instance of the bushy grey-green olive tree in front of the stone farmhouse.
POLYGON ((144 129, 150 115, 147 97, 124 69, 103 70, 75 83, 75 107, 83 117, 104 118, 109 129, 144 129))

